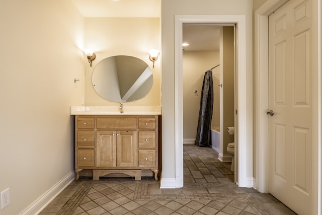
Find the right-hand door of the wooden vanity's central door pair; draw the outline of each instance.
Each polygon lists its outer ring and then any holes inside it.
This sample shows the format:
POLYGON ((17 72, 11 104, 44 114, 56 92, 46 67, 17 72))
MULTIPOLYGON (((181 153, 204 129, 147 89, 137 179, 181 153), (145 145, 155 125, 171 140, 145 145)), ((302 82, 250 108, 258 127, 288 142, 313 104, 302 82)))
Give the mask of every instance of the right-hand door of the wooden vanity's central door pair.
POLYGON ((137 131, 117 131, 117 167, 137 167, 137 131))

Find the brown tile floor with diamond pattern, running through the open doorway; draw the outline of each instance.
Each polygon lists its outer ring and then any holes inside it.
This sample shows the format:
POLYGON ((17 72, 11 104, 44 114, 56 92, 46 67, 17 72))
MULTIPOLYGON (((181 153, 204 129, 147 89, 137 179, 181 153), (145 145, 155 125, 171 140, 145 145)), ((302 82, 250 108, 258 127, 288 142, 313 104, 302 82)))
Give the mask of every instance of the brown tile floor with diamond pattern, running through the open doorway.
POLYGON ((81 177, 40 214, 295 214, 270 194, 237 187, 230 163, 217 158, 212 149, 184 145, 184 187, 176 189, 160 189, 153 177, 81 177))

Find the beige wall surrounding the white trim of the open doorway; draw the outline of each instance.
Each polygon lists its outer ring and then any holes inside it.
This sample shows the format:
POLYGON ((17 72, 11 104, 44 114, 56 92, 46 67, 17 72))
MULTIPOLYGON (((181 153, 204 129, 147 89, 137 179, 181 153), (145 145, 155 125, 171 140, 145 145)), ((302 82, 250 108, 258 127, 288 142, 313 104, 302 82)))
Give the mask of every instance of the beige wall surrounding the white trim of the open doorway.
MULTIPOLYGON (((175 178, 175 47, 174 15, 245 14, 247 38, 247 126, 253 127, 253 1, 239 0, 163 0, 162 1, 162 112, 163 112, 163 177, 175 178), (231 6, 234 7, 231 7, 231 6), (164 155, 163 155, 164 157, 164 155), (165 157, 164 157, 165 158, 165 157)), ((253 142, 252 129, 246 134, 253 142)), ((248 152, 253 154, 253 152, 248 152)), ((247 169, 247 176, 253 176, 253 169, 247 169)))

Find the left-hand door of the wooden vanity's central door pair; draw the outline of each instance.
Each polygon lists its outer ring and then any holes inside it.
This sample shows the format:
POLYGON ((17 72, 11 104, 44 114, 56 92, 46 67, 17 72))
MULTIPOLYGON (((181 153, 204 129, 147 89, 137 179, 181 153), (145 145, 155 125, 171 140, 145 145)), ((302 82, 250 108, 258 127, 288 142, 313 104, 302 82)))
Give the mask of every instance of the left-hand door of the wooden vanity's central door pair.
POLYGON ((97 131, 96 166, 116 167, 116 131, 97 131))

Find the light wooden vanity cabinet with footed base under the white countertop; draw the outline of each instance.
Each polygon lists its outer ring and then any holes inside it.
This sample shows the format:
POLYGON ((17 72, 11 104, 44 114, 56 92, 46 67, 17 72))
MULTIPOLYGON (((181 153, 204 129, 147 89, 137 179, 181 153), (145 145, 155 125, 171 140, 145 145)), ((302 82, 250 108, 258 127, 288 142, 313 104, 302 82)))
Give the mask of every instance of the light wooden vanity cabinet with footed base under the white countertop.
POLYGON ((83 169, 93 180, 110 173, 141 179, 150 169, 158 179, 158 116, 76 116, 76 180, 83 169))

